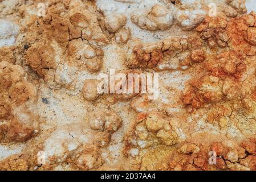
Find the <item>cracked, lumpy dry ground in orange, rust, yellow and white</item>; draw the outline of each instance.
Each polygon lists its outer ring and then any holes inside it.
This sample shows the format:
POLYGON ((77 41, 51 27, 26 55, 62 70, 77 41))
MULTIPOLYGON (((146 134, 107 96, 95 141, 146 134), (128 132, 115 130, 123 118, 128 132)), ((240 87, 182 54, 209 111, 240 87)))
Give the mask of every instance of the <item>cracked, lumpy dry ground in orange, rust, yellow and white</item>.
POLYGON ((0 169, 256 170, 256 13, 198 2, 0 1, 0 169), (111 68, 159 97, 99 94, 111 68))

